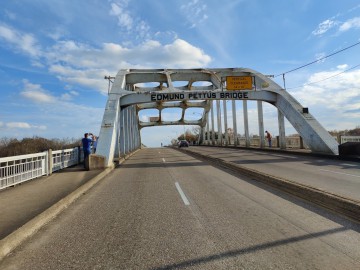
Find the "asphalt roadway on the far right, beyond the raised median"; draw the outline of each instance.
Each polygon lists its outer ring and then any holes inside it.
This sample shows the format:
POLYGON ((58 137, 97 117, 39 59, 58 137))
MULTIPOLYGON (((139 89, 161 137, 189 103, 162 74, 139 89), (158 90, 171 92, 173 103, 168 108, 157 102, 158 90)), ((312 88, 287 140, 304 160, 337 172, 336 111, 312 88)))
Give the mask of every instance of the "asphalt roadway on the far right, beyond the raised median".
POLYGON ((359 162, 234 148, 190 150, 360 201, 359 162))

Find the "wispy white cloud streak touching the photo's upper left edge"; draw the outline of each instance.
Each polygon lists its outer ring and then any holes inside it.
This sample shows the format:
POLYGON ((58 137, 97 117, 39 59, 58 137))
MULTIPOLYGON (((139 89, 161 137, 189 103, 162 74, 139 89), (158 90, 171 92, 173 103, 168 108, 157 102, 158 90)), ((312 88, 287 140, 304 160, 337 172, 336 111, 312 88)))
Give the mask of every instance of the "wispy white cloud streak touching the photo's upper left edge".
POLYGON ((37 40, 30 34, 16 31, 5 25, 0 25, 0 39, 5 40, 26 54, 32 57, 40 56, 41 50, 37 40))

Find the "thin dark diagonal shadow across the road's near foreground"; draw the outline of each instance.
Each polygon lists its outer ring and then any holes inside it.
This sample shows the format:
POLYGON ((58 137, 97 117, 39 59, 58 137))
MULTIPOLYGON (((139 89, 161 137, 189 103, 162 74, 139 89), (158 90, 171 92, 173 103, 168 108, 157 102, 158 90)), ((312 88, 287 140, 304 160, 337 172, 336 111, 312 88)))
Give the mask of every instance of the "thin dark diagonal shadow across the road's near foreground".
POLYGON ((310 233, 310 234, 306 234, 306 235, 302 235, 302 236, 290 237, 290 238, 283 239, 283 240, 277 240, 274 242, 268 242, 268 243, 264 243, 264 244, 260 244, 260 245, 254 245, 254 246, 242 248, 242 249, 235 249, 235 250, 230 250, 227 252, 213 254, 213 255, 209 255, 209 256, 205 256, 205 257, 195 258, 192 260, 187 260, 187 261, 183 261, 183 262, 179 262, 179 263, 164 265, 161 267, 152 268, 152 270, 171 270, 171 269, 182 269, 182 268, 187 268, 187 267, 194 267, 194 266, 203 265, 203 264, 217 261, 217 260, 229 259, 229 258, 238 257, 238 256, 249 254, 249 253, 256 253, 258 251, 262 251, 262 250, 266 250, 266 249, 270 249, 270 248, 274 248, 274 247, 278 247, 278 246, 288 245, 291 243, 296 243, 296 242, 310 240, 310 239, 316 239, 316 238, 320 238, 320 237, 323 237, 326 235, 344 232, 347 230, 349 230, 349 229, 342 227, 342 228, 330 229, 330 230, 317 232, 317 233, 310 233))

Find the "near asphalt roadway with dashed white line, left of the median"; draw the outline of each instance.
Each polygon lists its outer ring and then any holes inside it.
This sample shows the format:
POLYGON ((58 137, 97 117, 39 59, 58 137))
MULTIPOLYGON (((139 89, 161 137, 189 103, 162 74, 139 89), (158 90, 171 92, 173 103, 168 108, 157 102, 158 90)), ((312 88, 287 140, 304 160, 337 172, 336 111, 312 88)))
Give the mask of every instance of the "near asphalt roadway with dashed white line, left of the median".
POLYGON ((143 149, 0 269, 360 269, 360 225, 173 149, 143 149))

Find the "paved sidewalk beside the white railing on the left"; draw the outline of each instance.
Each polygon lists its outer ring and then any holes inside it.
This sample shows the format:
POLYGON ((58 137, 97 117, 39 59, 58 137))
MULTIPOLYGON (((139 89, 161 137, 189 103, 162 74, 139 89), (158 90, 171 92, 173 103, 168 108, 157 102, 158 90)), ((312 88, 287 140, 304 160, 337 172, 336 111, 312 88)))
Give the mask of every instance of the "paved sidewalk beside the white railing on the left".
POLYGON ((79 165, 1 190, 0 240, 101 172, 79 165))

